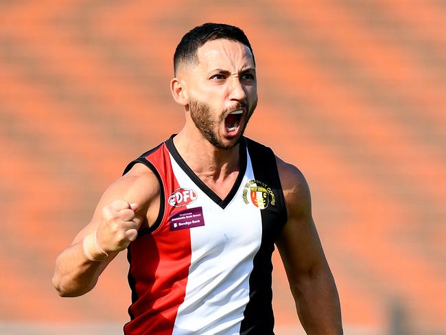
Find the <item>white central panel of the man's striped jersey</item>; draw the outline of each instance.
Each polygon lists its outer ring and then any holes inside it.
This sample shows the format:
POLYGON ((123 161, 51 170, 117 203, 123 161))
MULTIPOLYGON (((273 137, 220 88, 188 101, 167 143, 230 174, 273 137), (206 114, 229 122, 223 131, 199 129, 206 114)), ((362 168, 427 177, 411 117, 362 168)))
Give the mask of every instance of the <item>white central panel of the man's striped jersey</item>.
POLYGON ((239 334, 249 301, 249 277, 260 248, 260 209, 246 205, 244 185, 254 179, 247 153, 246 172, 225 209, 193 183, 171 156, 180 187, 197 198, 187 209, 202 209, 204 225, 191 227, 191 266, 185 300, 178 308, 173 334, 239 334))

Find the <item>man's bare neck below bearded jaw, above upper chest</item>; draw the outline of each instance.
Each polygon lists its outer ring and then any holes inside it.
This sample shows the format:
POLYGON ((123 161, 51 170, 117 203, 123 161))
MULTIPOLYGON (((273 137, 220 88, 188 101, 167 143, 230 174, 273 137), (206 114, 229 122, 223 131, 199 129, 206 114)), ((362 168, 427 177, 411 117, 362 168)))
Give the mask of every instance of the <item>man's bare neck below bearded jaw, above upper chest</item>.
POLYGON ((239 144, 228 150, 216 148, 200 132, 185 127, 174 137, 174 145, 197 176, 218 180, 239 170, 239 144))

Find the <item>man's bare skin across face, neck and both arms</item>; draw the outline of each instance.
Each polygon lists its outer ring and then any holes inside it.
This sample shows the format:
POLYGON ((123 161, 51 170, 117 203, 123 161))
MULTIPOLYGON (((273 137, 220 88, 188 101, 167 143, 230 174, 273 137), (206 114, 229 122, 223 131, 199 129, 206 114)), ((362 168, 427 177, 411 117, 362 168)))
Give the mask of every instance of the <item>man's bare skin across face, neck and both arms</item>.
MULTIPOLYGON (((197 51, 198 62, 181 65, 170 88, 185 108, 185 126, 174 145, 191 170, 220 196, 233 187, 240 171, 239 144, 257 105, 257 77, 250 49, 239 42, 217 39, 197 51), (242 110, 236 130, 225 119, 242 110), (200 119, 207 113, 207 121, 200 119)), ((298 317, 307 334, 342 334, 340 302, 312 218, 309 188, 296 167, 277 158, 288 221, 277 246, 287 272, 298 317)), ((91 290, 111 260, 126 249, 141 227, 151 226, 160 206, 160 185, 144 165, 137 164, 110 185, 91 222, 56 259, 53 282, 62 297, 91 290), (82 240, 97 231, 108 253, 92 262, 82 252, 82 240)))

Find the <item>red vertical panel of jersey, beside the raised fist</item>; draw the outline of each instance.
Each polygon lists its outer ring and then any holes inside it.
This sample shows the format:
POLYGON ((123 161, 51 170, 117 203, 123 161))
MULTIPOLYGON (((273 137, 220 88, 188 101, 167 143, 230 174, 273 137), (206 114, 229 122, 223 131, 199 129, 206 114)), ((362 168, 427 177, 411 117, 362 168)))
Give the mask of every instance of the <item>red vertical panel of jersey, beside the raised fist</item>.
POLYGON ((165 211, 158 229, 130 243, 129 279, 133 277, 136 285, 129 308, 132 320, 124 326, 124 333, 165 335, 172 334, 178 307, 185 299, 191 239, 189 229, 170 231, 169 218, 180 209, 167 200, 180 185, 165 144, 146 159, 163 181, 165 211))

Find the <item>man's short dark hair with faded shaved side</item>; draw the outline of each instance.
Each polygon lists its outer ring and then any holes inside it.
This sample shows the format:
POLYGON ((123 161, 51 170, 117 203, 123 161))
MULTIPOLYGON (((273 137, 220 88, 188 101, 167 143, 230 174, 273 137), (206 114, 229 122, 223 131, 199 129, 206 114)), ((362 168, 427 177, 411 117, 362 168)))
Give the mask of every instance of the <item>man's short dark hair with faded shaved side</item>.
POLYGON ((225 38, 226 40, 240 42, 248 47, 253 55, 253 48, 251 47, 248 37, 246 37, 243 30, 234 25, 226 25, 224 23, 204 23, 189 31, 176 47, 174 54, 174 73, 180 65, 196 64, 198 62, 197 50, 207 41, 217 40, 218 38, 225 38))

